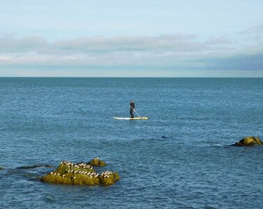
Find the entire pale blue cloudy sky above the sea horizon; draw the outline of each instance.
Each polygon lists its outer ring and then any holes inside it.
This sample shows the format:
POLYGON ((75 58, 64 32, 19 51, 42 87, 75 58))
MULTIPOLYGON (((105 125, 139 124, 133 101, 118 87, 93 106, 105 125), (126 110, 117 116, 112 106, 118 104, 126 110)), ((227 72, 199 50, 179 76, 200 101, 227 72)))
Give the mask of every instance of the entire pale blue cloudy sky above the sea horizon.
POLYGON ((262 0, 0 0, 0 77, 263 77, 262 0))

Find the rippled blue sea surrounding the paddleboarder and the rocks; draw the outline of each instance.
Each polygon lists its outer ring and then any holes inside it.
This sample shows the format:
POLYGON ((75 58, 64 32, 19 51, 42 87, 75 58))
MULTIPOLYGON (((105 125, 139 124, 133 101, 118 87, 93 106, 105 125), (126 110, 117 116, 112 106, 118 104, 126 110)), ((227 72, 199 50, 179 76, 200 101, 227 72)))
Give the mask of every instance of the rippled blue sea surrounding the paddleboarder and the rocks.
POLYGON ((262 208, 261 78, 0 78, 0 208, 262 208), (129 116, 130 100, 148 121, 129 116), (100 157, 108 187, 40 182, 100 157), (105 170, 104 169, 104 170, 105 170))

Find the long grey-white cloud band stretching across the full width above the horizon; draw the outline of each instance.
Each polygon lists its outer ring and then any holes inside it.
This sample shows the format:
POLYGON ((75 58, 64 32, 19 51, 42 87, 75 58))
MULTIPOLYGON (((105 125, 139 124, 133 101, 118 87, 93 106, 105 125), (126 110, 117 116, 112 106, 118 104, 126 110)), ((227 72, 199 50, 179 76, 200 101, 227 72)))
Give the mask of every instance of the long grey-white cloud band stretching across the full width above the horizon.
POLYGON ((263 43, 195 34, 103 36, 48 42, 0 36, 0 68, 263 70, 263 43))

